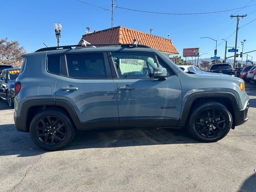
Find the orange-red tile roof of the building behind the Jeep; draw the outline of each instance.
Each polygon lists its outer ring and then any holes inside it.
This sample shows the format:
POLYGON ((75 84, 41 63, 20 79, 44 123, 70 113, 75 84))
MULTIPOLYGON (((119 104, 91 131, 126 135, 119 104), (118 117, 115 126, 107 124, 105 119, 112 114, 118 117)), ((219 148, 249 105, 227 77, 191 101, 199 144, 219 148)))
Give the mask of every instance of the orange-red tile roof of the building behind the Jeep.
POLYGON ((132 41, 136 39, 137 42, 140 40, 140 44, 155 48, 166 55, 179 54, 172 40, 123 26, 90 32, 82 35, 82 39, 91 44, 132 44, 132 41))

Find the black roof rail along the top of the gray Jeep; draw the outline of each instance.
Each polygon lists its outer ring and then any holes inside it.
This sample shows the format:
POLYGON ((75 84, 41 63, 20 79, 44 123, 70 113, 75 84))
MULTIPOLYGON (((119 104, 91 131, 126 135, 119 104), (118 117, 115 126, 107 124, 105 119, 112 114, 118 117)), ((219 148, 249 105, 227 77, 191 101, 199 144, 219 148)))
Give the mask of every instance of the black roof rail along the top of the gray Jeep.
MULTIPOLYGON (((81 47, 81 48, 86 48, 88 46, 120 46, 120 47, 135 47, 132 44, 86 44, 86 46, 82 45, 65 45, 65 46, 58 46, 58 47, 46 47, 46 48, 41 48, 36 50, 35 52, 40 52, 40 51, 50 51, 50 50, 62 50, 62 49, 72 49, 72 47, 81 47)), ((138 47, 146 47, 150 48, 149 46, 146 45, 137 45, 138 47)))

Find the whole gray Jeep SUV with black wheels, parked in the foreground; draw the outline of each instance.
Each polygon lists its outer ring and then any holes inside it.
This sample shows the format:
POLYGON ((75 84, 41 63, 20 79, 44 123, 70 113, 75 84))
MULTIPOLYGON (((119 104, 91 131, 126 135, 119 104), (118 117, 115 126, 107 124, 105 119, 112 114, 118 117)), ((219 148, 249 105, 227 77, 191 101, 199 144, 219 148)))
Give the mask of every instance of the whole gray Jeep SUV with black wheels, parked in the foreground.
POLYGON ((214 142, 248 120, 244 81, 187 74, 143 45, 94 44, 23 54, 15 84, 16 128, 46 150, 58 150, 75 130, 183 128, 214 142), (76 47, 76 48, 72 48, 76 47))

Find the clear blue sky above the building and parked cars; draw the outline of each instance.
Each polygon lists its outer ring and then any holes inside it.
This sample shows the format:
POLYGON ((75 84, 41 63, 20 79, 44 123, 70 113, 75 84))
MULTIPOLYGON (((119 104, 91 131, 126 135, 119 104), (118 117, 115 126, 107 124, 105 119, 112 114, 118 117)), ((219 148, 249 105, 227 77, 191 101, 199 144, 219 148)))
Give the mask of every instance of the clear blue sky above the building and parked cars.
MULTIPOLYGON (((111 0, 82 0, 102 8, 111 10, 111 0)), ((183 48, 199 47, 200 54, 207 53, 202 58, 214 56, 215 41, 200 37, 210 37, 220 44, 236 30, 235 19, 230 14, 248 14, 240 19, 238 32, 239 52, 256 50, 256 0, 116 0, 117 6, 165 13, 202 13, 230 10, 214 14, 168 15, 135 12, 114 8, 114 26, 124 26, 170 39, 182 56, 183 48), (254 21, 252 21, 254 20, 254 21), (252 22, 251 22, 252 21, 252 22), (249 23, 251 22, 251 23, 249 23), (248 24, 249 23, 249 24, 248 24)), ((0 39, 18 40, 27 52, 47 46, 56 46, 54 23, 63 26, 60 45, 77 44, 86 27, 92 30, 103 30, 111 27, 111 12, 77 0, 1 0, 0 39), (12 10, 12 11, 10 11, 12 10)), ((231 35, 228 46, 235 46, 236 33, 231 35)), ((218 56, 224 58, 225 43, 220 44, 218 56)), ((256 52, 249 54, 256 60, 256 52)), ((228 53, 227 56, 232 56, 228 53)), ((251 58, 251 57, 249 57, 251 58)), ((245 60, 246 58, 244 58, 245 60)), ((239 58, 240 60, 240 58, 239 58)))

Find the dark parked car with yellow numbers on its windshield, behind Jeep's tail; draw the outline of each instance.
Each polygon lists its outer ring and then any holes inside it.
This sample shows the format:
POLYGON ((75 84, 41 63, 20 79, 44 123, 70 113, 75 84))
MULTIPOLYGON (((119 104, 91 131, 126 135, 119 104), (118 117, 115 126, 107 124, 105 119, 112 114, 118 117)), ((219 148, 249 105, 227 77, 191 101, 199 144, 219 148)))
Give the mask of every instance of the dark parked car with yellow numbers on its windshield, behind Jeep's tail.
POLYGON ((20 68, 4 69, 0 72, 0 97, 14 107, 14 83, 20 73, 20 68))

